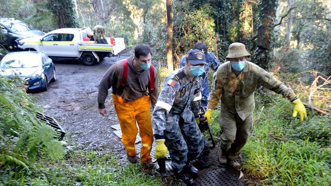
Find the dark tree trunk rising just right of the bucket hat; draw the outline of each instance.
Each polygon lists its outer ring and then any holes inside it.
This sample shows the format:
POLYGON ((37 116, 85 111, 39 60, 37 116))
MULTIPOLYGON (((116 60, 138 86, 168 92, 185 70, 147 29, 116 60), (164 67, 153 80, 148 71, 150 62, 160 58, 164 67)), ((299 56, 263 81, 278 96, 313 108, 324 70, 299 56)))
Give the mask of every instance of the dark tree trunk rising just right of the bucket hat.
POLYGON ((267 69, 273 20, 275 17, 276 1, 262 0, 260 26, 258 28, 258 48, 254 53, 254 61, 263 69, 267 69))

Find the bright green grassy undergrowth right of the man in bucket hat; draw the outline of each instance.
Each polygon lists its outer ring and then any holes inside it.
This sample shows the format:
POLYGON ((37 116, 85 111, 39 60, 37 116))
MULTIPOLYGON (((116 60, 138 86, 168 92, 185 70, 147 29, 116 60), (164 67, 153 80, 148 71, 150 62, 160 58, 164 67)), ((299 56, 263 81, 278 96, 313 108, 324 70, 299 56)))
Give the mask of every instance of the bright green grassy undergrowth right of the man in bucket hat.
POLYGON ((300 122, 292 117, 287 99, 264 97, 272 99, 256 109, 265 106, 243 147, 245 173, 266 185, 330 185, 330 116, 308 110, 308 118, 300 122))

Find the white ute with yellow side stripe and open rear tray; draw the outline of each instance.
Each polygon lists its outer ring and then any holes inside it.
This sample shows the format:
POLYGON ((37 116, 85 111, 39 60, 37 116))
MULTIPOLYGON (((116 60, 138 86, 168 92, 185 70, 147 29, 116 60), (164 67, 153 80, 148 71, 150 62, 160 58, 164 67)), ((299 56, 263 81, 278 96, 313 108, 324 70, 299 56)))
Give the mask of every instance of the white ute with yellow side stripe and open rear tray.
POLYGON ((117 55, 125 49, 124 38, 115 38, 111 44, 98 44, 95 41, 84 41, 91 29, 60 28, 44 36, 17 40, 17 47, 26 51, 42 51, 53 59, 79 59, 84 65, 95 65, 106 56, 117 55))

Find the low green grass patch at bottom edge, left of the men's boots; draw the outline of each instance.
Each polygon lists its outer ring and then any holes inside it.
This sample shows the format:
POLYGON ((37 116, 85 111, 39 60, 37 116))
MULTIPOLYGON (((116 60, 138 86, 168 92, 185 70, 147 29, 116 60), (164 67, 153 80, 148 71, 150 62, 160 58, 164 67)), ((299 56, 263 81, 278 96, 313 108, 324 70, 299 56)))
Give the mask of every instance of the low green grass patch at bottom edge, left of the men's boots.
POLYGON ((142 166, 120 161, 111 154, 76 149, 56 165, 41 167, 50 185, 162 185, 160 177, 150 176, 142 166))

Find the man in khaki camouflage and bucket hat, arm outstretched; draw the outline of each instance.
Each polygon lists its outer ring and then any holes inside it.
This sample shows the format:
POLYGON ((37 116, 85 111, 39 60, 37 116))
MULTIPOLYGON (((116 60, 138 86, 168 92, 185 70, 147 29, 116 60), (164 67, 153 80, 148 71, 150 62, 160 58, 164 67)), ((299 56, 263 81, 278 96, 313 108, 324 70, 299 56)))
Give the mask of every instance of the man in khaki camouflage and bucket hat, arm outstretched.
POLYGON ((229 163, 235 168, 240 167, 236 159, 252 130, 254 92, 258 85, 289 99, 294 105, 294 117, 299 113, 302 121, 307 116, 304 105, 295 96, 293 90, 259 66, 247 61, 246 57, 249 56, 244 44, 232 43, 229 46, 226 57, 229 61, 220 65, 213 75, 211 94, 205 114, 207 120, 210 121, 212 110, 220 98, 219 122, 223 128, 223 134, 220 136, 218 161, 221 164, 229 163))

